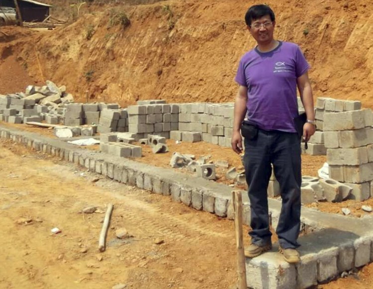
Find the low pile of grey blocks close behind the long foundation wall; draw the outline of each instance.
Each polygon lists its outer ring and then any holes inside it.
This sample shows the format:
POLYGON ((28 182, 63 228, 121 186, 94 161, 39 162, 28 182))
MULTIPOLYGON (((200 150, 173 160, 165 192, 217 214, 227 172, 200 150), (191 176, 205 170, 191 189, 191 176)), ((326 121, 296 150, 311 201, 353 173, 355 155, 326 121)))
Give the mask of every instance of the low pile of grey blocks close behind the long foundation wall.
POLYGON ((131 133, 113 133, 100 135, 100 150, 118 157, 141 157, 142 147, 131 144, 131 133))

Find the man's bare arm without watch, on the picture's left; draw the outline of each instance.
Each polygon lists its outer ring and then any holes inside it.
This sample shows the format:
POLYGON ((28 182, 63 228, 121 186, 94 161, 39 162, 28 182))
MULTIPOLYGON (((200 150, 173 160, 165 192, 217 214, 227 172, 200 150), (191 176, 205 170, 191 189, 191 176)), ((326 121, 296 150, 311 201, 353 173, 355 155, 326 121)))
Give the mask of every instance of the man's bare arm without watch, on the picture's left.
POLYGON ((247 103, 247 87, 240 85, 238 88, 236 100, 234 102, 234 118, 233 118, 233 134, 232 134, 232 149, 237 152, 242 152, 242 137, 240 133, 241 124, 246 115, 247 103))

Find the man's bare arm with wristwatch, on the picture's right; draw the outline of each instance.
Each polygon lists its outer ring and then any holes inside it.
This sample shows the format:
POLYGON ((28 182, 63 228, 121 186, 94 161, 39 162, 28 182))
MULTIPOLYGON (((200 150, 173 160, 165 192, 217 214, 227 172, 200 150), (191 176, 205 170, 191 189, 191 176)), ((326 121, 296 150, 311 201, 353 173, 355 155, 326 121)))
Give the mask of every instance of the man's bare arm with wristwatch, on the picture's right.
MULTIPOLYGON (((312 87, 308 78, 308 72, 305 72, 297 79, 300 99, 302 100, 304 110, 307 115, 307 121, 315 121, 315 110, 313 106, 312 87)), ((303 126, 303 140, 308 142, 310 137, 315 133, 315 124, 305 123, 303 126)))

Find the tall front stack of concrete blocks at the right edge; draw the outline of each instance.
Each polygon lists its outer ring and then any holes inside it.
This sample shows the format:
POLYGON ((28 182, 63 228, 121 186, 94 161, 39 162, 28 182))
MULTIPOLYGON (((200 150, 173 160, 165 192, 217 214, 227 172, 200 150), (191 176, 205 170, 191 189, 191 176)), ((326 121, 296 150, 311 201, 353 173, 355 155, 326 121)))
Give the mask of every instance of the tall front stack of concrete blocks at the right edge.
POLYGON ((373 189, 373 113, 370 109, 324 114, 329 177, 353 188, 364 201, 373 189))

